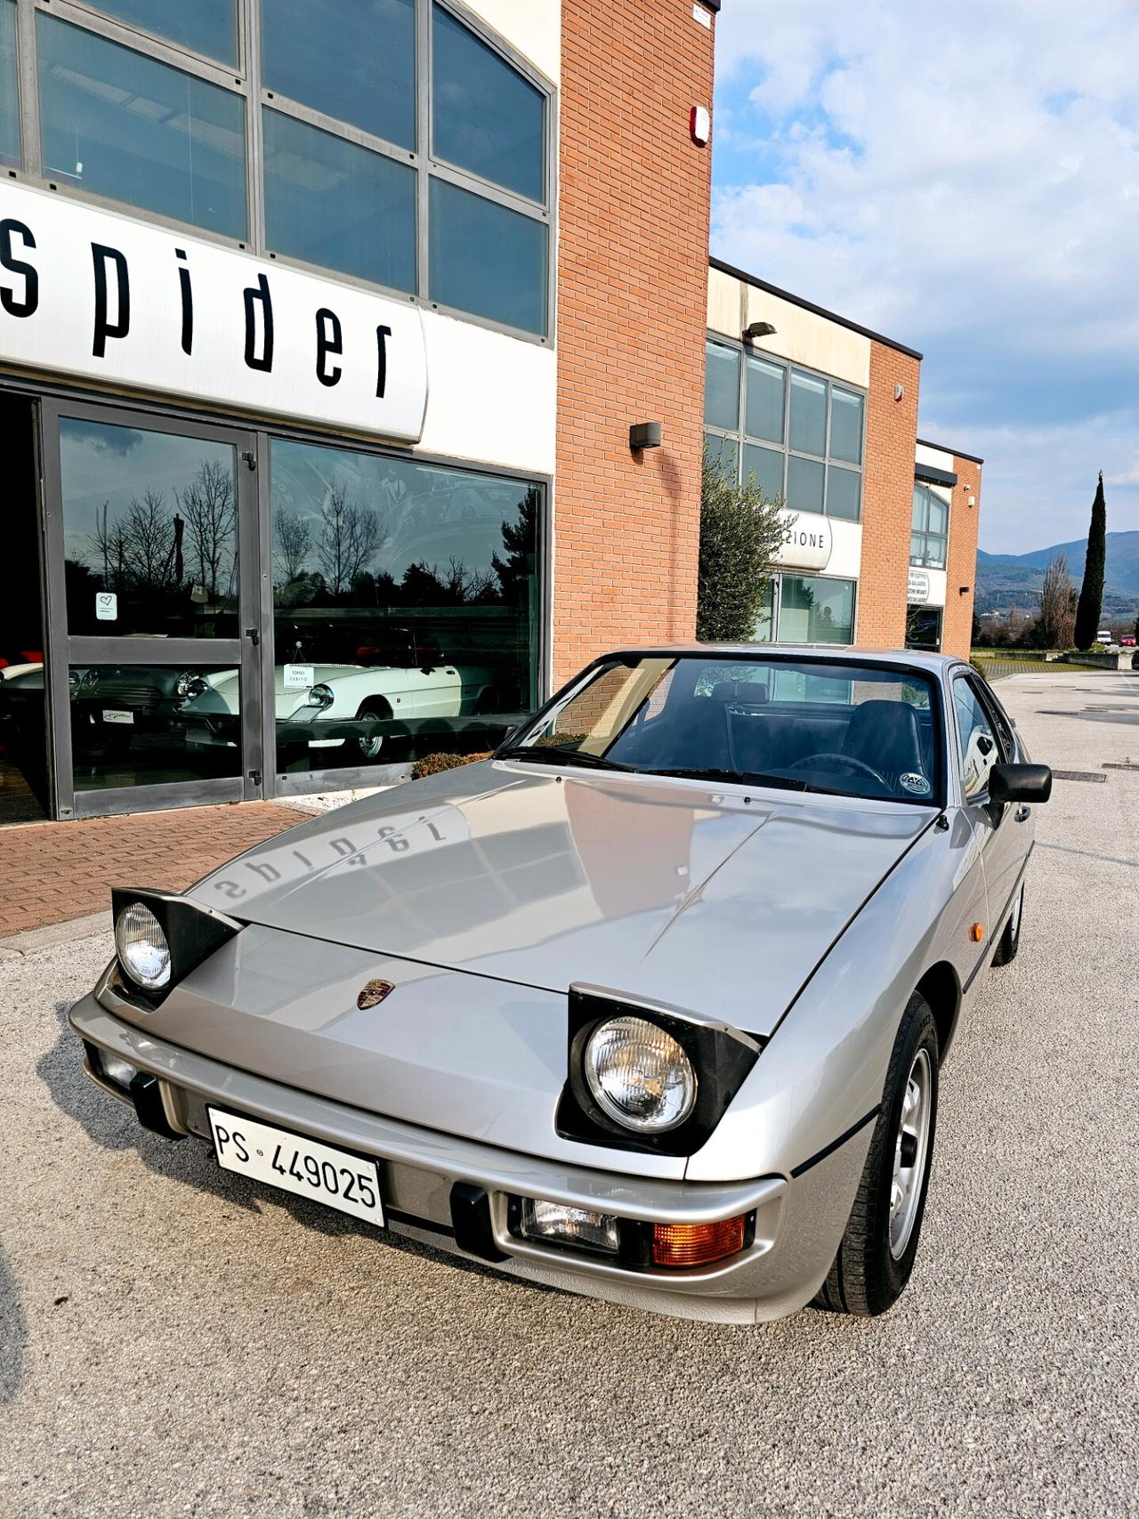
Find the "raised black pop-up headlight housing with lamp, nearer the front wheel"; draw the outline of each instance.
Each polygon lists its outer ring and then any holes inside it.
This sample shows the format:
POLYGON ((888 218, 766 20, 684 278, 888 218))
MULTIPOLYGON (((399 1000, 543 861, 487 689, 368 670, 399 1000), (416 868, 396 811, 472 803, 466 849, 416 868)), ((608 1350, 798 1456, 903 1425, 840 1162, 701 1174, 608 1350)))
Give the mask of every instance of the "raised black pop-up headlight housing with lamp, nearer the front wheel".
POLYGON ((755 1065, 762 1041, 592 986, 570 987, 563 1139, 694 1154, 755 1065))

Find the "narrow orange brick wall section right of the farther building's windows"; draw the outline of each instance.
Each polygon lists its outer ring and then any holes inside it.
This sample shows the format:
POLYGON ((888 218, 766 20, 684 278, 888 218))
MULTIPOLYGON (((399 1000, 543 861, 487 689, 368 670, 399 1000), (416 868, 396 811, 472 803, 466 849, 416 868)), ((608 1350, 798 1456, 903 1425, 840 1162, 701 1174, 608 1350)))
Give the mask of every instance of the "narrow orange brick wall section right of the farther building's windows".
POLYGON ((885 343, 870 345, 863 568, 855 624, 855 643, 864 649, 905 646, 919 375, 917 358, 885 343), (899 401, 894 401, 896 384, 905 392, 899 401))

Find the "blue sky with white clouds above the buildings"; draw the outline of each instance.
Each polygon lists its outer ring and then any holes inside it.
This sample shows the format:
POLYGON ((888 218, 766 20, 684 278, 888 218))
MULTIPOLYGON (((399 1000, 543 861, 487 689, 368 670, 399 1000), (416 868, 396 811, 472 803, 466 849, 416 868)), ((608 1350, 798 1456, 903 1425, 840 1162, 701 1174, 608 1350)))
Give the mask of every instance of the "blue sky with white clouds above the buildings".
POLYGON ((1139 529, 1139 5, 726 0, 712 252, 919 348, 981 547, 1139 529))

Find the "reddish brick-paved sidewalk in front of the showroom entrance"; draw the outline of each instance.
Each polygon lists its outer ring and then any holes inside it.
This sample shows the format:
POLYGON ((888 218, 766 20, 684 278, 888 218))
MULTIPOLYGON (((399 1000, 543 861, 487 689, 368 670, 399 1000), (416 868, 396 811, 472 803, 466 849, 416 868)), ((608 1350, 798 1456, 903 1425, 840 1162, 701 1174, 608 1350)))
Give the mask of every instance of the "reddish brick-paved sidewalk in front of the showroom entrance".
POLYGON ((241 802, 0 828, 0 939, 109 910, 112 886, 182 890, 310 816, 241 802))

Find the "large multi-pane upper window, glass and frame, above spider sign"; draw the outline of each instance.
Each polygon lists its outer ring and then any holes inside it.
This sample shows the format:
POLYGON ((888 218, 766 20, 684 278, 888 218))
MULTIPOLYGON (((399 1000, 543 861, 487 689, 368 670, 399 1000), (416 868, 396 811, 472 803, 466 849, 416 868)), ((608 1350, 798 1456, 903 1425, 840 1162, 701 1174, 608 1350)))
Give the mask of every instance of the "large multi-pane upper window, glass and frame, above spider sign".
POLYGON ((0 163, 541 342, 551 120, 457 0, 0 0, 0 163))

